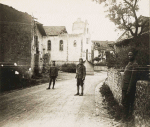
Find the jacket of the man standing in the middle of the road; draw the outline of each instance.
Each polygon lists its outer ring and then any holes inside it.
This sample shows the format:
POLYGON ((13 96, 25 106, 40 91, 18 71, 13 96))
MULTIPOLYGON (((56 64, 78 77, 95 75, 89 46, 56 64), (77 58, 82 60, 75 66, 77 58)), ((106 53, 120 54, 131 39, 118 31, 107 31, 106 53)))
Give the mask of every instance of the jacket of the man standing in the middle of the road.
POLYGON ((83 64, 78 64, 76 67, 76 78, 85 79, 86 76, 86 68, 83 64))

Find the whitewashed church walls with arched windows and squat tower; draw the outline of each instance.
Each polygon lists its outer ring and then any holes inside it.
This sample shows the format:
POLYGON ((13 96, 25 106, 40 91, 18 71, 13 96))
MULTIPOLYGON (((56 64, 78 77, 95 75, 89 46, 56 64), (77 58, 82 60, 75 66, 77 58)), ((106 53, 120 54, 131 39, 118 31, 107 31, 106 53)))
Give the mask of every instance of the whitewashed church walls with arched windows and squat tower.
POLYGON ((61 34, 58 36, 47 36, 44 39, 45 53, 50 53, 50 60, 55 60, 59 64, 78 63, 79 58, 86 60, 86 50, 88 49, 88 60, 91 61, 91 37, 87 21, 78 19, 72 27, 73 34, 61 34), (88 38, 88 44, 87 44, 88 38), (51 51, 47 50, 48 40, 51 40, 51 51), (59 41, 63 40, 63 51, 59 50, 59 41), (76 40, 76 45, 74 41, 76 40))

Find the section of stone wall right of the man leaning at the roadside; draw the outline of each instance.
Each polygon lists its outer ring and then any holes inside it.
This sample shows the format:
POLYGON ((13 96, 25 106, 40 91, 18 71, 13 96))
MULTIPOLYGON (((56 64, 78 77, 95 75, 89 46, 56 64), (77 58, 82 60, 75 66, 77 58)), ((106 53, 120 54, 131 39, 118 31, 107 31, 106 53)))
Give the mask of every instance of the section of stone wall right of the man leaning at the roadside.
POLYGON ((138 81, 136 84, 135 98, 135 126, 150 126, 150 83, 148 81, 138 81))

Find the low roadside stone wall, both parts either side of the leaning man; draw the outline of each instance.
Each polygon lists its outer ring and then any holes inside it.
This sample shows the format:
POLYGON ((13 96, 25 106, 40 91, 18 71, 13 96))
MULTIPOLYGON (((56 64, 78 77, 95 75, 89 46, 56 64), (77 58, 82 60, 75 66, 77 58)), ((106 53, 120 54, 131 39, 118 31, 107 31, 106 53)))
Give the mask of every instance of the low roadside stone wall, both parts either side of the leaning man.
MULTIPOLYGON (((106 84, 110 87, 114 98, 121 105, 123 73, 111 68, 107 73, 106 84)), ((134 107, 136 127, 148 127, 150 125, 150 83, 139 80, 136 84, 136 98, 134 107)))

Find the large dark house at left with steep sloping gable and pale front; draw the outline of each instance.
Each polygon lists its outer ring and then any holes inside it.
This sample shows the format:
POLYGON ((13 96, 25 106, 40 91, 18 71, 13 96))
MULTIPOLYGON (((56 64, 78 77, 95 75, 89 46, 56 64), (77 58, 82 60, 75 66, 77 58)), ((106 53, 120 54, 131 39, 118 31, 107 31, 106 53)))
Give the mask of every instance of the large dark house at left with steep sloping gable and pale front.
POLYGON ((14 63, 24 73, 41 67, 43 25, 27 13, 0 4, 0 64, 14 63), (39 56, 39 57, 36 57, 39 56), (36 59, 36 60, 35 60, 36 59))

